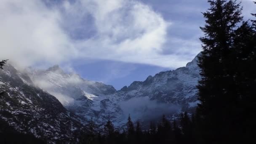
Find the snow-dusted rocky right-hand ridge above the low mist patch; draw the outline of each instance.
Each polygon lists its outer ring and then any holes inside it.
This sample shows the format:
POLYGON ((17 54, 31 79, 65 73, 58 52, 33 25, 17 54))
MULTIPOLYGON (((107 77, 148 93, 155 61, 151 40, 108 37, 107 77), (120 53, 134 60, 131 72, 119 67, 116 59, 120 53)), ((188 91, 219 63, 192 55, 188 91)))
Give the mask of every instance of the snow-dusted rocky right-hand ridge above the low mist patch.
POLYGON ((149 96, 150 100, 193 107, 193 103, 197 101, 196 85, 200 79, 199 72, 197 57, 195 57, 186 67, 160 72, 154 77, 147 77, 144 82, 135 81, 115 94, 123 100, 149 96))

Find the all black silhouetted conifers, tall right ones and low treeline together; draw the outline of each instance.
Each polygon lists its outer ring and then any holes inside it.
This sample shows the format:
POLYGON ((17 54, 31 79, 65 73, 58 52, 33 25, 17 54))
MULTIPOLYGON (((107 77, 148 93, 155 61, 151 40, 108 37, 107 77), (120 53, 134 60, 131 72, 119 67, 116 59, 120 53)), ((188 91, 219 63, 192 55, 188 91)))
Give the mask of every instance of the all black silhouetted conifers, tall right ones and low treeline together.
MULTIPOLYGON (((256 14, 245 19, 237 0, 208 0, 208 4, 202 13, 205 25, 200 27, 204 34, 198 59, 202 79, 195 112, 182 112, 172 120, 163 115, 146 129, 140 121, 133 123, 130 115, 122 130, 109 119, 98 131, 91 120, 77 135, 80 144, 256 143, 256 14)), ((0 68, 5 62, 0 62, 0 68)), ((0 135, 6 143, 12 143, 8 136, 23 137, 9 133, 0 135)), ((24 143, 43 143, 33 136, 26 139, 24 143)))

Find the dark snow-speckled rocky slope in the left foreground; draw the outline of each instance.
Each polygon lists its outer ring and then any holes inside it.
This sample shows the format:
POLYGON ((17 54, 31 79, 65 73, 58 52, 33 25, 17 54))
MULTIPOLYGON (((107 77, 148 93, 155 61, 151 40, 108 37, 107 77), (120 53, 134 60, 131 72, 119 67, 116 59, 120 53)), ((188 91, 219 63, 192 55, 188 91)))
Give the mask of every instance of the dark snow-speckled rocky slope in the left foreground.
POLYGON ((16 131, 47 138, 49 143, 75 142, 85 122, 10 64, 0 70, 0 119, 16 131))

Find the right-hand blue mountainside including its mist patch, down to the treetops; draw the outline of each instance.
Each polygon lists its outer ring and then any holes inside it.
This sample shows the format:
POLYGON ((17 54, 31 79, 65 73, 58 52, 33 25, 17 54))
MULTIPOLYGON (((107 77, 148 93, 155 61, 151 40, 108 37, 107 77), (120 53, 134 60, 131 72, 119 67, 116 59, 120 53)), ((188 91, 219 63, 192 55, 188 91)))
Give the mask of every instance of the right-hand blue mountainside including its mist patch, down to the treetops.
POLYGON ((196 85, 200 80, 200 68, 197 59, 198 56, 186 67, 160 72, 143 82, 135 81, 110 97, 118 99, 117 103, 126 117, 130 113, 135 115, 134 119, 147 120, 147 117, 157 118, 163 114, 170 116, 194 110, 199 102, 196 85), (127 107, 129 105, 132 107, 127 107))

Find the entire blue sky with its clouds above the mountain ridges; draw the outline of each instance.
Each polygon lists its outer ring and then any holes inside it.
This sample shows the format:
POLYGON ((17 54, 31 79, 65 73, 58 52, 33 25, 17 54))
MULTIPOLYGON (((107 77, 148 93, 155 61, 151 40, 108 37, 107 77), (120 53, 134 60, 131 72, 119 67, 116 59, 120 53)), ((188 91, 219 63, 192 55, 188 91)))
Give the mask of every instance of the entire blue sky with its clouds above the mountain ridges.
MULTIPOLYGON (((242 0, 245 19, 253 0, 242 0)), ((1 0, 2 58, 53 64, 120 89, 201 51, 206 0, 1 0)))

